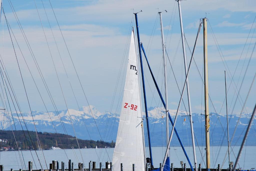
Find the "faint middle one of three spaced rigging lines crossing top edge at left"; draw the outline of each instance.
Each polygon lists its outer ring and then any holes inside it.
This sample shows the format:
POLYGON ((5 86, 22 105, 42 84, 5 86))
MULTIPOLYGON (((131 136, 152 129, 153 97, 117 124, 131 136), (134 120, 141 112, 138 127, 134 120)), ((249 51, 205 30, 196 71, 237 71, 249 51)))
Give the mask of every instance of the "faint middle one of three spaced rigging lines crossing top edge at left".
MULTIPOLYGON (((70 84, 70 87, 71 87, 71 90, 72 90, 72 93, 73 93, 74 98, 75 98, 75 100, 76 100, 76 103, 77 103, 77 106, 78 106, 78 109, 79 109, 80 115, 81 115, 81 117, 82 117, 82 120, 83 120, 83 122, 84 122, 84 125, 85 125, 85 127, 86 127, 86 130, 87 130, 87 132, 88 132, 88 134, 89 134, 89 131, 88 131, 88 129, 87 129, 87 125, 86 125, 86 123, 85 123, 85 121, 84 121, 84 118, 83 118, 83 116, 82 116, 82 113, 81 113, 80 107, 79 107, 79 105, 78 105, 77 98, 76 98, 76 96, 75 96, 75 94, 74 94, 73 87, 72 87, 71 82, 70 82, 70 79, 69 79, 69 77, 68 77, 68 74, 67 74, 67 71, 66 71, 65 65, 64 65, 63 60, 62 60, 62 57, 61 57, 61 55, 60 55, 60 51, 59 51, 59 48, 58 48, 58 45, 57 45, 57 42, 56 42, 56 39, 55 39, 54 33, 53 33, 53 31, 52 31, 52 28, 51 28, 51 25, 50 25, 49 19, 48 19, 48 15, 47 15, 47 13, 46 13, 44 3, 43 3, 43 1, 42 1, 42 0, 41 0, 41 2, 42 2, 42 5, 43 5, 43 7, 44 7, 44 11, 45 11, 45 14, 46 14, 46 17, 47 17, 47 20, 48 20, 48 23, 49 23, 49 26, 50 26, 50 29, 51 29, 51 32, 52 32, 52 36, 53 36, 53 38, 54 38, 54 41, 55 41, 55 44, 56 44, 56 47, 57 47, 57 50, 58 50, 58 53, 59 53, 59 56, 60 56, 60 59, 61 59, 62 65, 63 65, 63 68, 64 68, 64 70, 65 70, 65 73, 66 73, 67 79, 68 79, 68 81, 69 81, 69 84, 70 84)), ((48 113, 48 114, 49 114, 49 113, 48 113)), ((49 115, 49 117, 50 117, 50 115, 49 115)), ((53 123, 52 123, 52 124, 53 124, 53 123)), ((53 125, 54 125, 54 124, 53 124, 53 125)), ((55 130, 56 130, 56 129, 55 129, 55 130)), ((57 131, 56 131, 56 133, 57 133, 57 131)), ((58 133, 57 133, 57 135, 58 135, 58 133)), ((89 134, 89 137, 90 137, 90 139, 91 139, 90 134, 89 134)), ((65 153, 66 153, 66 152, 65 152, 65 153)), ((95 153, 97 154, 97 157, 98 157, 98 159, 99 159, 99 155, 98 155, 98 153, 97 153, 96 149, 95 149, 95 153)), ((66 154, 66 155, 67 155, 67 154, 66 154)), ((68 157, 68 156, 67 156, 67 157, 68 157)), ((83 162, 84 162, 84 161, 83 161, 83 162)))

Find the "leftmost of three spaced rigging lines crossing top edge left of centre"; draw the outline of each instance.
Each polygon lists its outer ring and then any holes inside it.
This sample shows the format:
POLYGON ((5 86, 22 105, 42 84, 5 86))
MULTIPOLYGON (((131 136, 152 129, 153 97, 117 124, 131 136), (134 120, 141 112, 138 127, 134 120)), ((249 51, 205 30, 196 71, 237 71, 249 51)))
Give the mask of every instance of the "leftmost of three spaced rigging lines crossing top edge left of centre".
MULTIPOLYGON (((43 32, 44 32, 44 36, 45 36, 45 39, 46 39, 46 42, 47 42, 47 46, 48 46, 48 49, 49 49, 49 52, 50 52, 50 56, 51 56, 51 59, 52 59, 52 63, 53 63, 53 65, 54 65, 54 69, 55 69, 55 72, 56 72, 56 75, 57 75, 57 78, 58 78, 58 82, 59 82, 59 85, 60 85, 60 89, 61 89, 61 92, 62 92, 62 96, 63 96, 63 99, 64 99, 64 101, 65 101, 66 107, 67 107, 68 115, 69 115, 69 118, 70 118, 70 123, 71 123, 71 125, 72 125, 73 131, 74 131, 74 135, 75 135, 75 137, 76 137, 77 145, 78 145, 78 148, 79 148, 79 151, 80 151, 80 154, 81 154, 81 158, 82 158, 82 161, 83 161, 83 156, 82 156, 82 152, 81 152, 81 149, 80 149, 80 146, 79 146, 79 143, 78 143, 76 131, 75 131, 75 129, 74 129, 73 121, 72 121, 72 119, 71 119, 71 116, 70 116, 70 113, 69 113, 69 109, 68 109, 68 105, 67 105, 67 102, 66 102, 66 99, 65 99, 63 90, 62 90, 62 86, 61 86, 61 84, 60 84, 59 76, 58 76, 58 73, 57 73, 57 70, 56 70, 56 66, 55 66, 55 63, 54 63, 52 54, 51 54, 51 50, 50 50, 49 43, 48 43, 48 40, 47 40, 47 37, 46 37, 46 34, 45 34, 45 30, 44 30, 44 27, 43 27, 43 24, 42 24, 42 20, 41 20, 41 17, 40 17, 40 15, 39 15, 39 11, 38 11, 38 8, 37 8, 37 5, 36 5, 36 1, 34 0, 34 2, 35 2, 36 10, 37 10, 37 13, 38 13, 38 17, 39 17, 39 19, 40 19, 41 26, 42 26, 42 29, 43 29, 43 32)), ((84 161, 83 161, 83 163, 84 163, 84 161)))

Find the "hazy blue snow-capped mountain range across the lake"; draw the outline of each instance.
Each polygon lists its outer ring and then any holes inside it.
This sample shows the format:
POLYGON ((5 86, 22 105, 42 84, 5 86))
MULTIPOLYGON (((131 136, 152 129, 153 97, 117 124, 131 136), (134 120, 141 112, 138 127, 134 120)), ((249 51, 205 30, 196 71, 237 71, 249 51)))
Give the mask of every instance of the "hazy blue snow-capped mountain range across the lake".
MULTIPOLYGON (((149 124, 151 131, 151 140, 153 145, 165 145, 165 113, 164 108, 159 107, 150 107, 148 109, 149 115, 149 124)), ((173 120, 175 118, 177 110, 170 109, 170 115, 173 120)), ((194 131, 199 145, 204 144, 204 113, 193 113, 193 122, 194 122, 194 131)), ((236 131, 233 145, 239 145, 241 143, 244 128, 247 126, 249 121, 250 114, 243 113, 236 131)), ((234 127, 237 123, 239 115, 232 115, 229 121, 230 127, 230 136, 232 136, 234 127)), ((81 139, 92 139, 92 140, 101 140, 115 141, 116 133, 118 129, 119 114, 109 113, 109 112, 100 112, 94 106, 84 106, 80 110, 77 109, 68 109, 49 111, 49 112, 39 112, 33 111, 31 113, 12 113, 12 115, 0 113, 0 122, 1 129, 11 130, 10 122, 14 129, 14 124, 17 130, 26 129, 24 122, 27 125, 28 130, 35 131, 34 122, 38 132, 53 132, 56 133, 66 133, 74 135, 74 131, 78 138, 81 139), (92 116, 93 114, 93 116, 92 116), (33 117, 32 117, 33 116, 33 117), (49 117, 50 116, 50 117, 49 117), (12 119, 13 118, 13 119, 12 119), (24 119, 24 120, 23 120, 24 119), (34 120, 34 121, 33 121, 34 120), (21 124, 20 124, 21 123, 21 124), (53 126, 54 125, 54 126, 53 126), (55 128, 54 128, 55 127, 55 128), (65 130, 65 131, 64 131, 65 130), (99 133, 100 132, 100 133, 99 133)), ((144 132, 146 132, 146 120, 144 119, 144 132)), ((213 145, 218 145, 225 134, 223 129, 226 132, 226 116, 217 115, 216 113, 211 113, 210 116, 210 134, 211 134, 211 143, 213 145)), ((170 130, 172 126, 170 125, 170 130)), ((185 145, 191 144, 191 131, 189 117, 187 116, 186 111, 178 111, 178 117, 176 122, 176 128, 183 139, 185 145)), ((256 131, 254 127, 251 128, 247 144, 255 145, 255 135, 256 131)), ((146 136, 145 136, 146 137, 146 136)), ((178 145, 176 136, 174 136, 173 144, 178 145)), ((226 143, 224 143, 225 145, 226 143)))

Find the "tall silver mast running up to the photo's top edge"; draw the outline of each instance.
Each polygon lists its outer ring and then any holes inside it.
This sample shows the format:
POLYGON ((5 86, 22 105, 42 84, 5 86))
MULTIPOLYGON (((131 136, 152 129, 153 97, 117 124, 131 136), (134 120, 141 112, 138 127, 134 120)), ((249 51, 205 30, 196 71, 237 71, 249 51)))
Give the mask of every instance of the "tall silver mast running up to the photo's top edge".
MULTIPOLYGON (((184 31, 183 31, 183 22, 182 22, 182 13, 181 13, 180 0, 178 0, 178 6, 179 6, 179 19, 180 19, 180 30, 181 30, 181 37, 182 37, 183 57, 184 57, 184 64, 185 64, 185 74, 187 75, 187 72, 188 72, 188 70, 187 70, 187 56, 186 56, 186 49, 185 49, 185 40, 184 40, 185 38, 184 38, 184 31)), ((188 109, 189 109, 190 128, 191 128, 191 137, 192 137, 192 145, 193 145, 194 163, 195 163, 195 170, 197 171, 196 146, 195 146, 195 139, 194 139, 194 128, 193 128, 193 120, 192 120, 192 112, 191 112, 188 78, 187 78, 186 86, 187 86, 187 95, 188 95, 188 109)))

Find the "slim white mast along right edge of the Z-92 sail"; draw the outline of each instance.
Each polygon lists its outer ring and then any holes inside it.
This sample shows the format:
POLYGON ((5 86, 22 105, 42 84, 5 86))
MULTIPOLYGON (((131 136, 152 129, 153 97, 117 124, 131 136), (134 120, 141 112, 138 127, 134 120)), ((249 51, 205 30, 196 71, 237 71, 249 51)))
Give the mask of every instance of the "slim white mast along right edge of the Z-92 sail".
MULTIPOLYGON (((132 27, 132 30, 133 30, 133 38, 134 38, 134 40, 136 40, 135 39, 135 29, 134 29, 134 27, 132 27)), ((134 45, 135 45, 135 52, 136 52, 136 58, 138 57, 138 53, 137 53, 137 46, 136 46, 136 41, 134 41, 134 45)), ((137 66, 139 66, 138 65, 138 60, 136 59, 136 61, 137 61, 137 66)), ((138 69, 137 69, 138 70, 138 69)), ((140 94, 140 99, 141 99, 141 87, 140 87, 140 75, 139 75, 139 72, 138 72, 138 86, 139 86, 139 94, 140 94)), ((141 100, 140 100, 140 105, 141 105, 141 100)), ((142 105, 141 105, 142 106, 142 105)), ((143 116, 142 116, 142 107, 141 107, 141 119, 143 118, 143 116)), ((143 140, 143 152, 144 152, 144 163, 145 163, 145 166, 146 166, 146 163, 147 163, 147 161, 146 161, 146 148, 145 148, 145 138, 144 138, 144 127, 143 127, 143 120, 141 120, 141 122, 142 122, 142 127, 141 127, 141 129, 142 129, 142 140, 143 140)))

